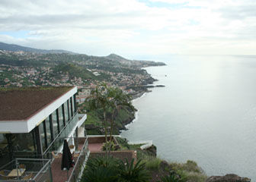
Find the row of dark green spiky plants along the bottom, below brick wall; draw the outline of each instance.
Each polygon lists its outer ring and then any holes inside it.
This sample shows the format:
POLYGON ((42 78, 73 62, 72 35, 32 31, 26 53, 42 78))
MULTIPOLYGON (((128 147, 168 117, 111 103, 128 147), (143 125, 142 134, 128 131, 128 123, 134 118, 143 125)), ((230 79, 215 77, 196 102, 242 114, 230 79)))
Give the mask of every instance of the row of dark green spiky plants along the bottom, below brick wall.
POLYGON ((149 174, 141 161, 134 164, 117 158, 90 158, 82 176, 82 182, 147 182, 149 174))

